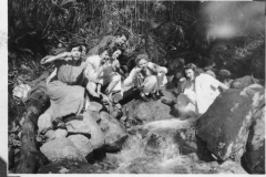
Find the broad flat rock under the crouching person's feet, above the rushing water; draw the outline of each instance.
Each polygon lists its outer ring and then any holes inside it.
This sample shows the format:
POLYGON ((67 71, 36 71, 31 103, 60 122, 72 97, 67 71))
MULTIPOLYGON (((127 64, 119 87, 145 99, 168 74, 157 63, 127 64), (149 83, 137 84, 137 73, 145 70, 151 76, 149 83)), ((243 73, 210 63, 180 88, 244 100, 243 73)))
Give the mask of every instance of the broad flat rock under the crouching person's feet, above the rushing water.
MULTIPOLYGON (((163 96, 161 98, 165 100, 176 100, 173 93, 167 91, 162 91, 163 96)), ((150 102, 143 102, 141 100, 135 100, 124 105, 129 110, 130 117, 140 117, 143 121, 152 122, 160 119, 168 119, 177 116, 171 110, 168 105, 165 105, 158 101, 151 100, 150 102)))

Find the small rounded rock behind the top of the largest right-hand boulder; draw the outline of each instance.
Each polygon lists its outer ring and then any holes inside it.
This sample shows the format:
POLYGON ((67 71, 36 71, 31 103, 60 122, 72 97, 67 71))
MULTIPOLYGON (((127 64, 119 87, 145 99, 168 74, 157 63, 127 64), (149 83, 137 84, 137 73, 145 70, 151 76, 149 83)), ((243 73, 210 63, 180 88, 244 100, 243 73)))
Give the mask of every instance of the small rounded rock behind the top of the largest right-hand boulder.
POLYGON ((247 87, 248 85, 258 83, 258 80, 254 79, 250 75, 246 75, 239 79, 234 80, 231 87, 236 90, 243 90, 244 87, 247 87))

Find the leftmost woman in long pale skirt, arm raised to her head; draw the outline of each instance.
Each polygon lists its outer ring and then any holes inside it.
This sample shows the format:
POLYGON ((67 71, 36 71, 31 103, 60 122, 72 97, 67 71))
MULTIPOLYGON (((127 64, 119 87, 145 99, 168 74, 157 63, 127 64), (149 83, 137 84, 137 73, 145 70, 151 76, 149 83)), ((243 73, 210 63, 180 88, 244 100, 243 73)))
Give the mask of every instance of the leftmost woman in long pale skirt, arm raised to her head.
MULTIPOLYGON (((41 64, 54 62, 55 74, 50 75, 48 95, 51 100, 50 108, 40 116, 61 118, 71 114, 80 114, 84 106, 85 88, 82 86, 86 63, 82 60, 84 43, 73 40, 68 52, 55 56, 44 58, 41 64)), ((44 118, 44 117, 43 117, 44 118)))

